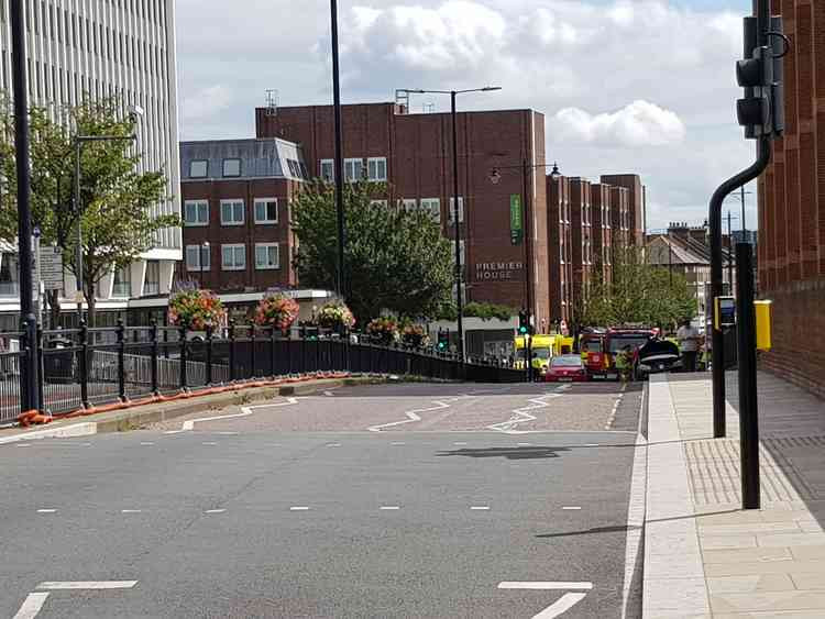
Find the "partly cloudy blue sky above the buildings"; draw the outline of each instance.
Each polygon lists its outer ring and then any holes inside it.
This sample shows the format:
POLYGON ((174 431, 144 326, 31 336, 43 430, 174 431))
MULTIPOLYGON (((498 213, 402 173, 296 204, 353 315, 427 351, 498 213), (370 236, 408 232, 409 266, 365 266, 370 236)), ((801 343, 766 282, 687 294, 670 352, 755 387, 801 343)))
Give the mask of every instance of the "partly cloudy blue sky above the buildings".
MULTIPOLYGON (((253 136, 267 89, 282 106, 331 103, 327 0, 176 5, 182 140, 253 136)), ((339 0, 338 10, 344 103, 501 86, 461 109, 543 113, 547 158, 566 176, 639 174, 651 230, 704 222, 716 186, 754 158, 735 113, 751 0, 339 0)), ((449 98, 410 100, 414 112, 427 104, 446 111, 449 98)), ((756 196, 746 201, 752 229, 756 196)))

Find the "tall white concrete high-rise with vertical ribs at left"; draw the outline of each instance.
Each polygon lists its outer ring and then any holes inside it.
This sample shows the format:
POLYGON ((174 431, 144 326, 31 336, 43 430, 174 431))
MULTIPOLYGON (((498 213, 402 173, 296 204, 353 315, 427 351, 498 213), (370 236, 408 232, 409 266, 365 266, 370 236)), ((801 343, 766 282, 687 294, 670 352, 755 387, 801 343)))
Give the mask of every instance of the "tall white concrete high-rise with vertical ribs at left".
MULTIPOLYGON (((166 172, 167 195, 173 197, 157 205, 155 212, 179 214, 174 0, 22 1, 30 102, 63 106, 84 96, 118 96, 125 106, 142 108, 135 147, 143 153, 146 169, 166 172)), ((11 95, 9 8, 10 0, 0 0, 0 89, 11 95)), ((130 298, 169 291, 176 262, 182 259, 180 230, 163 230, 154 241, 154 247, 130 268, 100 283, 101 312, 125 310, 130 298)), ((9 294, 14 292, 13 284, 1 284, 0 312, 13 312, 19 309, 18 295, 9 294)), ((67 276, 66 303, 74 303, 75 291, 74 277, 67 276)))

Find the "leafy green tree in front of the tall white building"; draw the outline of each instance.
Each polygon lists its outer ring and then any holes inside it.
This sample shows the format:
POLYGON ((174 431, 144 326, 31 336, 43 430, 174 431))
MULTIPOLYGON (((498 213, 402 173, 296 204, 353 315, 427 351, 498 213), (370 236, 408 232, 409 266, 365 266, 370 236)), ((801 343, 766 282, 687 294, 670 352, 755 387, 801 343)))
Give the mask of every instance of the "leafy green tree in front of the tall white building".
MULTIPOLYGON (((163 170, 139 172, 140 153, 129 140, 136 122, 123 114, 118 99, 86 101, 77 107, 32 108, 31 207, 42 241, 63 250, 64 265, 77 276, 77 225, 82 245, 84 296, 89 324, 95 324, 97 288, 112 269, 134 262, 153 245, 153 235, 180 224, 177 215, 154 215, 155 205, 168 199, 163 170), (79 208, 73 205, 75 135, 118 136, 123 140, 86 142, 81 146, 79 208)), ((0 115, 0 237, 16 237, 16 176, 10 106, 0 115)), ((50 298, 53 317, 59 312, 57 294, 50 298)))

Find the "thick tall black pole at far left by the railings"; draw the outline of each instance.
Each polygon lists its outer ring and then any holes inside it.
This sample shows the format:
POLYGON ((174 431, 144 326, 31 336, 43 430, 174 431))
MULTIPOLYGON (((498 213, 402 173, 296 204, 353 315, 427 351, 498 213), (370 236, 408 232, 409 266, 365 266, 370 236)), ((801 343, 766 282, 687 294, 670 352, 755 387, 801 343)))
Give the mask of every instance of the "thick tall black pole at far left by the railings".
POLYGON ((23 412, 40 410, 37 389, 37 317, 34 314, 32 277, 32 211, 29 173, 29 100, 26 90, 25 23, 22 0, 11 2, 12 86, 14 96, 14 153, 18 179, 18 256, 20 261, 20 319, 29 354, 20 373, 23 412))

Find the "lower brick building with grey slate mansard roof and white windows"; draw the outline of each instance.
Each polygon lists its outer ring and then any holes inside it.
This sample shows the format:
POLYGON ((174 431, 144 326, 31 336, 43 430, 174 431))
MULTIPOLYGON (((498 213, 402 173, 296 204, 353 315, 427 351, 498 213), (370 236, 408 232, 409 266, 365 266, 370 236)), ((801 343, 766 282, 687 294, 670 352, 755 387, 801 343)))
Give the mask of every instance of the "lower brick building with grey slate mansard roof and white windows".
POLYGON ((289 200, 307 169, 296 144, 285 140, 183 142, 180 170, 182 279, 219 292, 297 284, 289 200))

